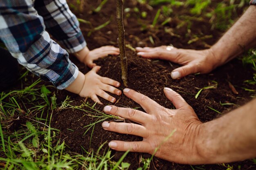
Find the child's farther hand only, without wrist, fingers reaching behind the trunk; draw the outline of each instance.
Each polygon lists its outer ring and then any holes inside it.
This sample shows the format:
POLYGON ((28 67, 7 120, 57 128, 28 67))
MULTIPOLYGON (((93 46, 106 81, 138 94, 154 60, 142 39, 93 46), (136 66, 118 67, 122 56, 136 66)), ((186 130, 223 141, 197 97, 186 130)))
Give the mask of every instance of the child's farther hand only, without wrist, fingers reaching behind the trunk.
POLYGON ((88 65, 88 67, 93 68, 96 66, 96 64, 93 63, 94 60, 97 60, 101 57, 106 57, 108 56, 108 54, 118 55, 119 53, 120 53, 119 48, 116 48, 114 46, 103 46, 103 47, 91 50, 85 56, 83 63, 85 63, 85 65, 88 65))

